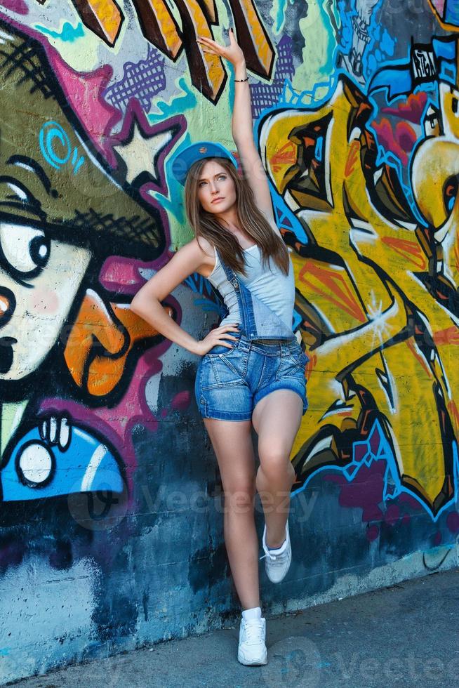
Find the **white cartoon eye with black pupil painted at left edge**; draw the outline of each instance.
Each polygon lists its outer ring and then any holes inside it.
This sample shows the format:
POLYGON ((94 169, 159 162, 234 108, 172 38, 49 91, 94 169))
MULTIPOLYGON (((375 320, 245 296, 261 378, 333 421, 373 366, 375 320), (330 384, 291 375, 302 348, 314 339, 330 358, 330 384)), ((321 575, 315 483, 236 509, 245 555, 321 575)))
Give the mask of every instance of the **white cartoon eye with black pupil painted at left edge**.
POLYGON ((49 239, 42 230, 26 225, 0 223, 0 249, 9 270, 35 277, 48 263, 49 239))

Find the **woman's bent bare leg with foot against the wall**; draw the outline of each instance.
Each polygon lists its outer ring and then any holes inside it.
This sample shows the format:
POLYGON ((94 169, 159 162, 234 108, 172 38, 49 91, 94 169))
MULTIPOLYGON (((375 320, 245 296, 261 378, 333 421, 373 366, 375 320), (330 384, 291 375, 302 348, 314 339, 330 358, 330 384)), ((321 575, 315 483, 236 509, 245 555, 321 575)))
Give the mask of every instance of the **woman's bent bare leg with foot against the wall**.
POLYGON ((290 452, 301 418, 302 401, 292 390, 274 390, 253 409, 260 456, 256 487, 265 512, 266 543, 271 548, 280 547, 285 540, 290 490, 295 479, 290 452))

